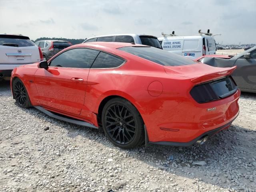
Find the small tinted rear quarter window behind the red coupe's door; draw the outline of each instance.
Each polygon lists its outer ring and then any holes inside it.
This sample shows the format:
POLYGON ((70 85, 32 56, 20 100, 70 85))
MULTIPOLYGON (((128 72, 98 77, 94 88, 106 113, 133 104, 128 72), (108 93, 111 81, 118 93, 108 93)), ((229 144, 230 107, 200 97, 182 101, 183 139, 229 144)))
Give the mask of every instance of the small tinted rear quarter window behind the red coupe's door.
POLYGON ((120 66, 124 60, 116 56, 100 52, 92 64, 92 68, 114 68, 120 66))

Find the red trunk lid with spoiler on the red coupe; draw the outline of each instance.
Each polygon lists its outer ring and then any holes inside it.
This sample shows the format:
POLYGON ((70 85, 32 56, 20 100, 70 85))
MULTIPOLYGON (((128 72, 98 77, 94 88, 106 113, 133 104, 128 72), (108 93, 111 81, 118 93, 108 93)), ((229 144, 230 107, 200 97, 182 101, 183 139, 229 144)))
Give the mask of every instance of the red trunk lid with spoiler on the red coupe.
POLYGON ((230 68, 212 67, 196 63, 184 66, 164 66, 166 74, 191 78, 192 82, 206 82, 232 74, 236 66, 230 68))

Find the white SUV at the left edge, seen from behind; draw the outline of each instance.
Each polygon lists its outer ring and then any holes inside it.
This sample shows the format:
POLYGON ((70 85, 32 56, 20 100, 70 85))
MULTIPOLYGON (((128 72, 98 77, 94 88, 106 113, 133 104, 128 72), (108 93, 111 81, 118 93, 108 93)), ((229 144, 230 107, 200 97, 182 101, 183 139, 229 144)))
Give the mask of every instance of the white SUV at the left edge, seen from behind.
POLYGON ((41 49, 28 37, 0 34, 0 80, 9 80, 12 70, 43 60, 41 49))

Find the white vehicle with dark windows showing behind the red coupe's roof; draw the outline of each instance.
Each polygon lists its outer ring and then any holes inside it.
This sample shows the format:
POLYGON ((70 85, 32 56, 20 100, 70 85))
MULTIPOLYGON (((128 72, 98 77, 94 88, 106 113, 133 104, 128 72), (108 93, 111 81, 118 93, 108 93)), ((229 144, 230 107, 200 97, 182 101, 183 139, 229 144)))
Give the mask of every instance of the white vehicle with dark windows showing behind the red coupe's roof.
POLYGON ((138 34, 114 34, 114 35, 102 35, 88 38, 83 43, 89 42, 122 42, 122 43, 136 43, 142 45, 148 45, 162 49, 157 37, 152 35, 138 35, 138 34))

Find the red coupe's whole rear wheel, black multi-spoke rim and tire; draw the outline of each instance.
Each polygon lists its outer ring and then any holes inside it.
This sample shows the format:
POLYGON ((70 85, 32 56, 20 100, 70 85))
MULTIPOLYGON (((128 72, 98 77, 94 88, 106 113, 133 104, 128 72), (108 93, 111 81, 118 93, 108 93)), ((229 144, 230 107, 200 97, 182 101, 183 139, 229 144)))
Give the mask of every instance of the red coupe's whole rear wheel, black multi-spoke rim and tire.
POLYGON ((102 110, 102 127, 107 138, 123 149, 144 142, 144 122, 138 110, 124 98, 109 100, 102 110))

